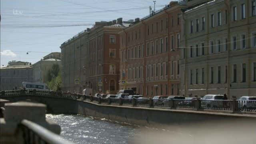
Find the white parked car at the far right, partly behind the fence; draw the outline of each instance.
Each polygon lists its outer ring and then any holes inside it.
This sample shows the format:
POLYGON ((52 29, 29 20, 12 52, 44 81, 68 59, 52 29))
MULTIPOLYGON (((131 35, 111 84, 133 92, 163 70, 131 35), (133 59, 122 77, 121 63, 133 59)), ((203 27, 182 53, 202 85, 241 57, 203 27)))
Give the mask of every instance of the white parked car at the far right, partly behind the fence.
POLYGON ((253 108, 256 109, 256 96, 241 96, 238 99, 238 108, 253 108))

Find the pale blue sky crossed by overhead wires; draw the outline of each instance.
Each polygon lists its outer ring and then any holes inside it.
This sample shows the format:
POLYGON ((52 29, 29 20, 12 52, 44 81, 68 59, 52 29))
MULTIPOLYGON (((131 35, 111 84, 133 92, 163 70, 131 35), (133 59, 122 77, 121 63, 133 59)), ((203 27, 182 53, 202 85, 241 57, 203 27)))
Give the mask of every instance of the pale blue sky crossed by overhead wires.
MULTIPOLYGON (((156 0, 156 10, 169 2, 156 0)), ((0 66, 34 64, 95 22, 143 18, 149 6, 153 0, 1 0, 0 66)))

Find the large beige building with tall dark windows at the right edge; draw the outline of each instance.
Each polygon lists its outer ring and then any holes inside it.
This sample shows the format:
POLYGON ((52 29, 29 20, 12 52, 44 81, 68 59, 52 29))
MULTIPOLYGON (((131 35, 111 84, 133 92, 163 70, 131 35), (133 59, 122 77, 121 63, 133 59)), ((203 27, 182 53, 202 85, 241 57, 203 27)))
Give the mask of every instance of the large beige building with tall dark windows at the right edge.
POLYGON ((256 95, 256 1, 192 0, 187 5, 180 16, 181 93, 256 95))

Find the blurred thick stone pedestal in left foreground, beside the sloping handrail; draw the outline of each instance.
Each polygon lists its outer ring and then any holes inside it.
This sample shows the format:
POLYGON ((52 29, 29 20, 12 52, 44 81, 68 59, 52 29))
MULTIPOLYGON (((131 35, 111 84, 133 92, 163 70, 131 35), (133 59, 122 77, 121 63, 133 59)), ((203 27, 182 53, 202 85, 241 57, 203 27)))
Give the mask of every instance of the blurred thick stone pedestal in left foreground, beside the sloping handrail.
POLYGON ((24 119, 39 124, 60 134, 60 126, 45 118, 46 105, 32 102, 6 103, 4 118, 0 118, 0 143, 19 144, 24 141, 24 131, 20 122, 24 119))

